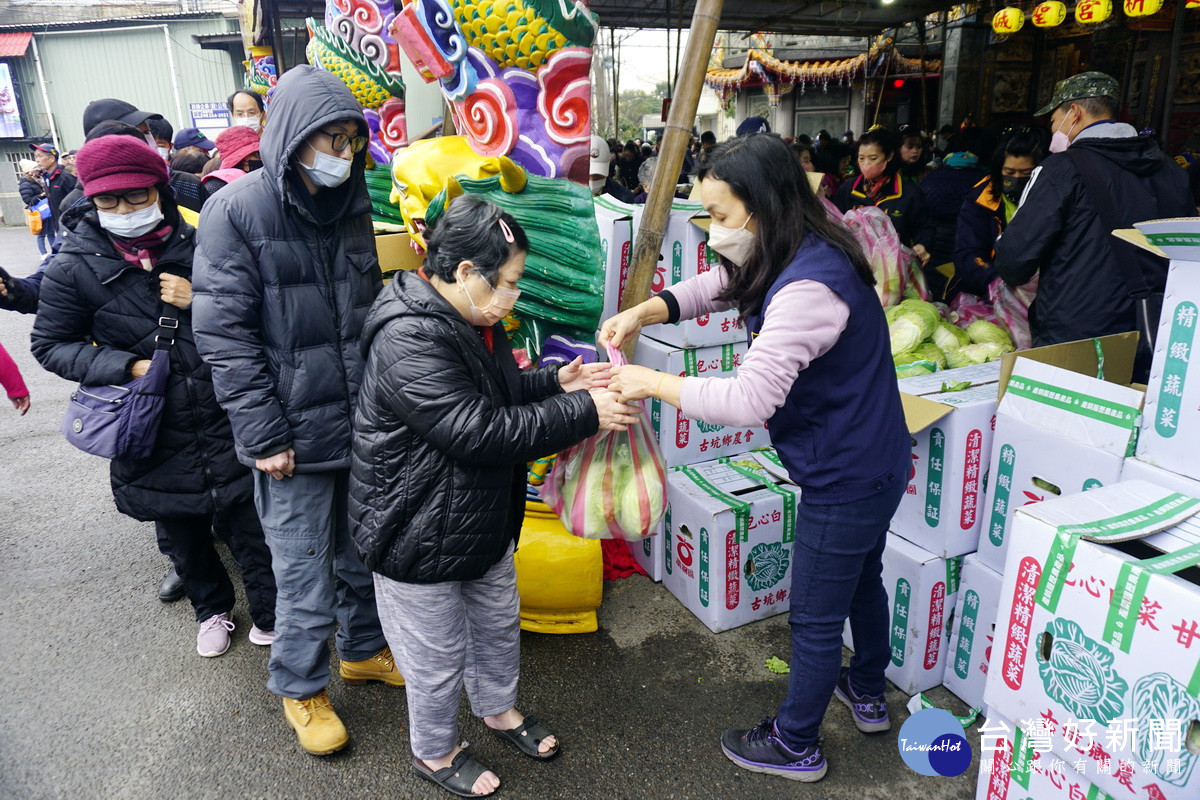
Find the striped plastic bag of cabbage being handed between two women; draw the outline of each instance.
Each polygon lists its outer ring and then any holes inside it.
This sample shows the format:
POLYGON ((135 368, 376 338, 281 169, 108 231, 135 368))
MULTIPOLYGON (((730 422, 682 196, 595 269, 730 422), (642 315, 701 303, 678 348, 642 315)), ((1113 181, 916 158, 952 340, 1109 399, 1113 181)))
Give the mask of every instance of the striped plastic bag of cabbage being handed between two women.
MULTIPOLYGON (((619 351, 610 357, 624 362, 619 351)), ((576 536, 638 540, 662 519, 666 487, 662 452, 641 414, 628 431, 601 431, 559 453, 541 499, 576 536)))

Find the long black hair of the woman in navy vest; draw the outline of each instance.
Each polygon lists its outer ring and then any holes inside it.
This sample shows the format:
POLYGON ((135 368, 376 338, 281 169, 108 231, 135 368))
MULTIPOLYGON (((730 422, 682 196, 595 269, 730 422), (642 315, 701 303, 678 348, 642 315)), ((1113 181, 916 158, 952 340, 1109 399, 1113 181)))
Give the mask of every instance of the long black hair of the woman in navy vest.
POLYGON ((808 173, 779 136, 751 133, 716 145, 696 178, 727 184, 757 221, 749 260, 738 266, 721 257, 728 283, 718 299, 736 303, 743 317, 762 311, 767 291, 810 233, 845 253, 854 273, 875 285, 863 249, 848 228, 826 213, 808 173))

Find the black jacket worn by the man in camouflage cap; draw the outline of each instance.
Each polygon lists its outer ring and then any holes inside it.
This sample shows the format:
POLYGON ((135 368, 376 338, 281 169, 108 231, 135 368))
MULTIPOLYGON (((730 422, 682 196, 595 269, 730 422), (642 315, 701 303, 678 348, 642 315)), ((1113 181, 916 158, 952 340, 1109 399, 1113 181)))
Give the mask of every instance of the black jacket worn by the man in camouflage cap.
MULTIPOLYGON (((1121 122, 1105 122, 1103 128, 1094 136, 1080 134, 1070 150, 1087 150, 1098 156, 1094 163, 1104 166, 1096 180, 1121 216, 1115 227, 1195 215, 1183 170, 1153 139, 1136 136, 1121 122)), ((1020 209, 996 241, 992 265, 1009 285, 1027 283, 1040 270, 1038 296, 1030 307, 1034 345, 1136 327, 1129 285, 1117 260, 1129 258, 1134 248, 1111 235, 1114 225, 1100 221, 1091 194, 1072 157, 1052 155, 1034 174, 1020 209)), ((1151 290, 1162 291, 1166 259, 1136 252, 1151 290)))

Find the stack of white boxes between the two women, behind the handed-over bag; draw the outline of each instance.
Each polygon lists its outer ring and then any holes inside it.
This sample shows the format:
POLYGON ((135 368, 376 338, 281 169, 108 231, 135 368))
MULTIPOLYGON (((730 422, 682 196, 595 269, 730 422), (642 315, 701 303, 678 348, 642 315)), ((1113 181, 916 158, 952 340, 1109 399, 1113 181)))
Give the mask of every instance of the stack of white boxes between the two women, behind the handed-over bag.
MULTIPOLYGON (((596 198, 595 207, 607 319, 620 305, 642 206, 605 196, 596 198)), ((677 200, 653 290, 718 263, 708 248, 703 207, 677 200)), ((644 329, 635 361, 672 375, 728 378, 748 349, 745 329, 737 312, 728 311, 644 329)), ((713 631, 787 610, 799 491, 752 456, 731 459, 767 447, 767 429, 709 425, 659 401, 648 401, 647 411, 671 474, 666 517, 658 535, 631 546, 635 559, 713 631)), ((770 457, 763 458, 774 465, 770 457)))

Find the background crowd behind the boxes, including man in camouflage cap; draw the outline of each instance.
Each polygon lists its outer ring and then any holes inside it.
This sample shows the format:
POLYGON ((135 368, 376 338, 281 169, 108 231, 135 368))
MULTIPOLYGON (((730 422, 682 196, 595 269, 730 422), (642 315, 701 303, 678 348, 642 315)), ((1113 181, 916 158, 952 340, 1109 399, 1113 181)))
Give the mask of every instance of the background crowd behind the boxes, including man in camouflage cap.
MULTIPOLYGON (((1168 157, 1156 132, 1118 120, 1117 97, 1114 78, 1086 72, 1060 82, 1034 121, 1004 130, 967 116, 936 132, 874 126, 835 138, 822 130, 788 144, 805 172, 821 174, 814 188, 838 212, 887 213, 932 300, 1003 303, 1027 318, 1027 343, 1051 344, 1133 330, 1130 294, 1162 291, 1162 259, 1127 252, 1106 231, 1200 209, 1200 131, 1168 157), (1122 270, 1130 259, 1145 285, 1122 270)), ((764 118, 750 116, 736 136, 769 131, 764 118)), ((593 193, 644 203, 658 144, 595 137, 593 193)), ((710 131, 694 137, 684 172, 715 144, 710 131)), ((685 178, 679 197, 691 191, 685 178)))

